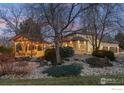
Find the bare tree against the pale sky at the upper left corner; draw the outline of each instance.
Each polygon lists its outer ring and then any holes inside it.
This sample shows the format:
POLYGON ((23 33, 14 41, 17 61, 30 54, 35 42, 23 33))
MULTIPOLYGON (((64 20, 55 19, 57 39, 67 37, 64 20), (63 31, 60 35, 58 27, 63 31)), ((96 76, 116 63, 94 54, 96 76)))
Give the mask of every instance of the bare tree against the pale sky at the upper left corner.
POLYGON ((15 6, 12 6, 4 10, 1 8, 0 19, 6 24, 10 32, 18 34, 20 22, 24 19, 23 7, 15 8, 15 6))

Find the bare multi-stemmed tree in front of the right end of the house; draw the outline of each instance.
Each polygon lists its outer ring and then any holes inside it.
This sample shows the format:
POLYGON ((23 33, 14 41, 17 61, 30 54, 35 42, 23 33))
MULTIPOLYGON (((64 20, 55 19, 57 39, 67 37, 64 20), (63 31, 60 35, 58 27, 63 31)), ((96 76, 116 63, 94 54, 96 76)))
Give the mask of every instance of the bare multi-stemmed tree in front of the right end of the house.
POLYGON ((83 12, 82 27, 87 32, 87 38, 93 51, 98 50, 103 38, 114 31, 118 10, 118 4, 96 4, 83 12))

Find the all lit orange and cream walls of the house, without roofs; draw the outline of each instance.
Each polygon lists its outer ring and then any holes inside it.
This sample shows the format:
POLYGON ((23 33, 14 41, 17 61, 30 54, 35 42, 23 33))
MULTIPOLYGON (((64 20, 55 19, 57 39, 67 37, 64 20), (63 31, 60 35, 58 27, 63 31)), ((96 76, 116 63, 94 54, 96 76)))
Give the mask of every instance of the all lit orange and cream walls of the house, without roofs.
MULTIPOLYGON (((84 37, 84 36, 83 36, 84 37)), ((14 53, 15 57, 25 57, 25 56, 35 56, 35 57, 42 57, 44 56, 44 52, 47 48, 50 48, 51 44, 47 43, 39 43, 39 42, 32 42, 29 41, 27 38, 20 37, 16 39, 15 41, 12 41, 14 44, 14 53), (22 50, 17 51, 17 45, 21 44, 22 50), (34 46, 34 49, 31 50, 30 47, 34 46), (40 47, 40 50, 39 48, 40 47)), ((69 41, 69 42, 63 42, 62 46, 70 46, 73 47, 75 54, 91 54, 93 52, 92 45, 90 44, 89 41, 69 41)), ((102 42, 100 49, 107 48, 107 50, 111 50, 115 48, 117 51, 114 52, 115 54, 119 54, 119 46, 118 44, 113 44, 113 43, 105 43, 102 42)))

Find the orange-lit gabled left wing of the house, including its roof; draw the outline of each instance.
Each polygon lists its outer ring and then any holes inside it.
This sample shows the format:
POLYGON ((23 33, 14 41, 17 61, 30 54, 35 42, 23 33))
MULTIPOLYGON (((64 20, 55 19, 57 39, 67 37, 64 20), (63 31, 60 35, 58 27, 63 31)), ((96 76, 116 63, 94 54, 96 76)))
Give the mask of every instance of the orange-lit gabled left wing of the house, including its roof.
POLYGON ((16 35, 10 39, 14 46, 15 57, 41 57, 44 51, 50 47, 50 43, 30 38, 25 35, 16 35))

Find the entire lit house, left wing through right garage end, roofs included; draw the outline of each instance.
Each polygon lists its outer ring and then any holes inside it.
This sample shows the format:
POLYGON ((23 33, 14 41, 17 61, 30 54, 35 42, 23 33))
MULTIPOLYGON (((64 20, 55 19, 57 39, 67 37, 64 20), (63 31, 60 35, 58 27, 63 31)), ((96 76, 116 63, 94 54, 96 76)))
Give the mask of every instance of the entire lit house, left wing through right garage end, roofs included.
MULTIPOLYGON (((52 44, 46 41, 34 40, 23 35, 16 35, 10 41, 14 46, 15 57, 42 57, 45 50, 52 46, 52 44)), ((71 33, 64 36, 62 46, 72 47, 75 54, 91 54, 93 52, 87 35, 80 33, 71 33)), ((113 42, 113 40, 111 42, 110 40, 103 39, 100 50, 111 50, 115 54, 119 54, 118 43, 113 42)))

